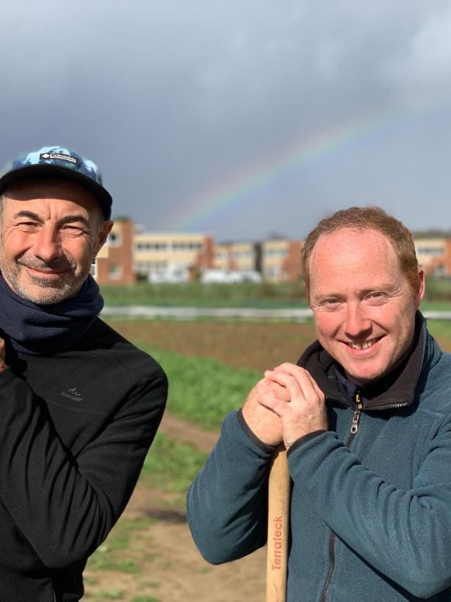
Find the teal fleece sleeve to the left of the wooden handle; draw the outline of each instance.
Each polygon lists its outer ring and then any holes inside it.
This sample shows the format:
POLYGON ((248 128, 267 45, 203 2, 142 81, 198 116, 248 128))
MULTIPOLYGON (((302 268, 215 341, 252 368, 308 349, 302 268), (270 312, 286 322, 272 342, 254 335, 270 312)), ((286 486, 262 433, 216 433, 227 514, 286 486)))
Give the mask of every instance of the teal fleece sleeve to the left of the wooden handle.
POLYGON ((236 560, 266 543, 271 451, 245 434, 236 412, 228 414, 187 493, 192 536, 210 563, 236 560))

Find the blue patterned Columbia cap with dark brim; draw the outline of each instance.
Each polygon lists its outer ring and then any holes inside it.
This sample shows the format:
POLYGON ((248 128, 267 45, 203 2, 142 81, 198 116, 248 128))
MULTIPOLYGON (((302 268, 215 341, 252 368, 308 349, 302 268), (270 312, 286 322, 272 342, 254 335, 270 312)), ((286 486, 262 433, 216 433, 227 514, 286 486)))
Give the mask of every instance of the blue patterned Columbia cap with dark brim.
POLYGON ((110 219, 113 199, 101 183, 99 168, 89 159, 63 147, 43 147, 23 154, 0 176, 0 194, 16 180, 35 176, 55 176, 84 186, 97 198, 105 219, 110 219))

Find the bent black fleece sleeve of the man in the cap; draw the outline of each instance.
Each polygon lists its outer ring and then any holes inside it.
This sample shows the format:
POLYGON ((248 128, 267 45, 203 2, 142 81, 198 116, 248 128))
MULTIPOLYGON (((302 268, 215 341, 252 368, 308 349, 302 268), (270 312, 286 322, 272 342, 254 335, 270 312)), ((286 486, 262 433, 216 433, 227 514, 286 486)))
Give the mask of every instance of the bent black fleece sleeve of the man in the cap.
POLYGON ((162 371, 142 381, 76 457, 47 407, 11 369, 0 374, 0 499, 48 567, 85 560, 127 503, 166 403, 162 371))

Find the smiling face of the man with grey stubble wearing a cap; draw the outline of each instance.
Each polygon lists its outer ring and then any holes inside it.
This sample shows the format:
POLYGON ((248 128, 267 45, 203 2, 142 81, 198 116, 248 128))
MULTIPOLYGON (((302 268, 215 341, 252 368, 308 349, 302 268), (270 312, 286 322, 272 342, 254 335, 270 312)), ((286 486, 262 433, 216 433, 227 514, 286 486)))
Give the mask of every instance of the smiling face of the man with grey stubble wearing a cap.
POLYGON ((89 190, 64 180, 20 180, 4 192, 0 269, 21 297, 49 305, 75 296, 111 230, 89 190))

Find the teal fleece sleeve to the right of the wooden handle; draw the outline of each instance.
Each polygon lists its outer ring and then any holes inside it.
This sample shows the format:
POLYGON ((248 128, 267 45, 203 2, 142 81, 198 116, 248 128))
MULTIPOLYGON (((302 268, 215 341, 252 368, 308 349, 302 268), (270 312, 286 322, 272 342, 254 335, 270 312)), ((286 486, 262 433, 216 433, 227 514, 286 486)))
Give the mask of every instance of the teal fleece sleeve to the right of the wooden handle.
POLYGON ((316 512, 366 562, 414 596, 451 584, 451 427, 431 439, 412 489, 362 465, 333 432, 292 450, 290 474, 316 512))

